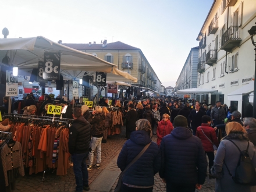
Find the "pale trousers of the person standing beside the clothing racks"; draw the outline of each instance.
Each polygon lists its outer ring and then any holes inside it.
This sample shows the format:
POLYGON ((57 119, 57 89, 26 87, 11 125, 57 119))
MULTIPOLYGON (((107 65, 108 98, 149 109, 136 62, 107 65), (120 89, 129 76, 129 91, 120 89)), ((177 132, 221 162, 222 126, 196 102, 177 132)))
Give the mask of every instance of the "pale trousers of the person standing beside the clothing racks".
POLYGON ((102 137, 92 137, 90 142, 91 152, 89 152, 88 165, 93 165, 94 151, 97 150, 97 162, 101 163, 101 140, 102 137))

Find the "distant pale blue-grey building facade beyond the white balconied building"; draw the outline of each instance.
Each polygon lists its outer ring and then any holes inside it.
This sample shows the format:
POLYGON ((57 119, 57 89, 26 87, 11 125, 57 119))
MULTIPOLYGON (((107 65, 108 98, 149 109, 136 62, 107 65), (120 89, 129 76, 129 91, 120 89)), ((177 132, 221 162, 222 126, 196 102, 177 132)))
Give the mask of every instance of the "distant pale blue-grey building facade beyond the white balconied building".
POLYGON ((197 87, 197 64, 198 64, 198 47, 191 48, 189 56, 180 72, 176 81, 175 90, 184 90, 187 88, 197 87))

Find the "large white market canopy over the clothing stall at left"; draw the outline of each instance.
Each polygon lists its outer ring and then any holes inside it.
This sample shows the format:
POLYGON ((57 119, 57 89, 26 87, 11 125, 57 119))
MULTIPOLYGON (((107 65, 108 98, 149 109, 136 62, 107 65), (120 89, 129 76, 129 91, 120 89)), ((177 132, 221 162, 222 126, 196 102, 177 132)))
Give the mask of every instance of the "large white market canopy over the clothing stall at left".
MULTIPOLYGON (((113 63, 106 62, 86 52, 58 44, 42 36, 0 39, 0 61, 8 55, 10 65, 19 67, 19 72, 21 71, 20 69, 27 72, 38 68, 38 61, 44 60, 44 52, 61 53, 61 70, 77 71, 78 73, 105 72, 108 73, 107 79, 111 81, 137 82, 137 78, 118 70, 113 63)), ((22 74, 19 73, 19 75, 22 74)))

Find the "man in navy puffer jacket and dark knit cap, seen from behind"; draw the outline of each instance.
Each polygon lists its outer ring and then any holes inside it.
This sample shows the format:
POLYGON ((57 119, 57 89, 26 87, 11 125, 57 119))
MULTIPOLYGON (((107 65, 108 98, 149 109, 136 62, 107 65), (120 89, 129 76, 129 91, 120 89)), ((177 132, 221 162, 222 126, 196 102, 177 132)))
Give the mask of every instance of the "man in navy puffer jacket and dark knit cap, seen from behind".
POLYGON ((159 176, 166 191, 194 192, 201 189, 207 172, 207 159, 200 138, 193 136, 187 119, 177 115, 172 133, 163 137, 160 150, 162 166, 159 176))

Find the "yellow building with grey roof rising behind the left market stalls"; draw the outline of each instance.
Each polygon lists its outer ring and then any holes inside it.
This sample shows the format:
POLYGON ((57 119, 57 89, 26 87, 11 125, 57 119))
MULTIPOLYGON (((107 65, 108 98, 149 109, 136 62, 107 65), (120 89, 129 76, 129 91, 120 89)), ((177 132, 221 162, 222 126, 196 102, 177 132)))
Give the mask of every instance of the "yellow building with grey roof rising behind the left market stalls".
POLYGON ((138 79, 137 86, 151 88, 158 93, 161 92, 161 81, 139 48, 132 47, 120 41, 107 43, 106 40, 102 44, 89 42, 88 44, 63 45, 87 52, 88 54, 113 63, 118 66, 119 70, 136 77, 138 79))

